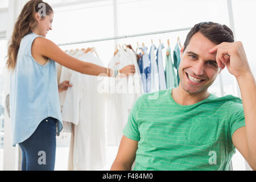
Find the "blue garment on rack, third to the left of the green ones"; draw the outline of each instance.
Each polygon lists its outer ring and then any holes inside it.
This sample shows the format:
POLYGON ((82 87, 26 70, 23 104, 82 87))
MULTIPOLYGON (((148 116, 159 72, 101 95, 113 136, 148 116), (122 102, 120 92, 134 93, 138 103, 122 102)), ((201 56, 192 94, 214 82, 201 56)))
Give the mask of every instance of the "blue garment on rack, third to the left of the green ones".
POLYGON ((147 47, 141 48, 143 51, 142 55, 142 82, 143 82, 143 89, 146 93, 151 92, 151 67, 150 67, 150 59, 147 53, 147 47))

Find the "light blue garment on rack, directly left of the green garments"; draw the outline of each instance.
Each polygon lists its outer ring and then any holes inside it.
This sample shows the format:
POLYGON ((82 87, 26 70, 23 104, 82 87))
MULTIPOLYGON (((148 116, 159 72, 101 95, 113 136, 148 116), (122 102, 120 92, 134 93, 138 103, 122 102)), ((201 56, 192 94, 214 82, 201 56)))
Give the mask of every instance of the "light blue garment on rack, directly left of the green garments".
POLYGON ((156 51, 156 63, 158 64, 158 73, 159 73, 159 89, 164 90, 166 89, 166 76, 164 73, 164 67, 163 67, 163 43, 161 43, 158 47, 158 50, 156 51))

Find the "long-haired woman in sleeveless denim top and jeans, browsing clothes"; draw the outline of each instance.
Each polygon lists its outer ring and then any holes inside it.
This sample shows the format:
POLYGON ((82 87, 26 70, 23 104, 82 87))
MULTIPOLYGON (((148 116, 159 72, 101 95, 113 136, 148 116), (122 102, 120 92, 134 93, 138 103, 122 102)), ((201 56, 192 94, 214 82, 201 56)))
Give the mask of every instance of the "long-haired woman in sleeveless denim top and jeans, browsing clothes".
POLYGON ((61 92, 72 86, 66 81, 58 88, 55 61, 94 76, 128 76, 135 72, 134 65, 113 70, 67 55, 45 38, 52 30, 52 21, 53 10, 47 3, 27 2, 15 23, 8 49, 13 146, 19 143, 22 149, 22 170, 54 170, 56 127, 57 135, 63 128, 58 89, 61 92))

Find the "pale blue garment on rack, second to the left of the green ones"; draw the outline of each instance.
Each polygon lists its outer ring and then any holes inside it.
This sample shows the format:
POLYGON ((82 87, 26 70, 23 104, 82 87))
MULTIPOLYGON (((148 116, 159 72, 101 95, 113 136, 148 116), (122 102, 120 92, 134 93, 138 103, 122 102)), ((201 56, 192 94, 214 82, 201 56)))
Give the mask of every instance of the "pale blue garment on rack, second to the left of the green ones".
POLYGON ((150 68, 151 68, 151 90, 150 92, 159 91, 159 73, 158 73, 158 64, 155 59, 155 45, 152 44, 150 47, 149 59, 150 59, 150 68))

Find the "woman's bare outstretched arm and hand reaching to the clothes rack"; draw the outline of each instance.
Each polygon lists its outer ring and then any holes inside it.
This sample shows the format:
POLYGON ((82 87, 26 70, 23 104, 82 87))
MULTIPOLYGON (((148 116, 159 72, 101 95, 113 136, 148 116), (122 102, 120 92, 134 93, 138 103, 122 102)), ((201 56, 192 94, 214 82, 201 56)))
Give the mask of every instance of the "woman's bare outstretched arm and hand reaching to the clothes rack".
MULTIPOLYGON (((108 76, 110 77, 110 75, 113 74, 112 69, 108 69, 107 71, 104 67, 92 63, 86 63, 67 55, 67 53, 63 52, 55 43, 46 38, 36 38, 32 47, 36 54, 48 57, 64 67, 73 69, 74 71, 94 76, 98 76, 101 73, 105 73, 106 75, 108 73, 108 76)), ((129 74, 135 73, 135 67, 134 65, 127 65, 121 69, 120 72, 128 76, 129 74)))

